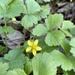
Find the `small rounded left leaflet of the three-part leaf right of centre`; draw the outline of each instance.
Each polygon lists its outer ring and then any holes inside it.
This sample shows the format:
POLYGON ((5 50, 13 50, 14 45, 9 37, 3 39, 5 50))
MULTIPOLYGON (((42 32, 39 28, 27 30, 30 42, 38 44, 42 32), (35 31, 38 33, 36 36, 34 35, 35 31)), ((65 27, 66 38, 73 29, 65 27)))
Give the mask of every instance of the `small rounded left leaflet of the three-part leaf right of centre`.
POLYGON ((47 28, 43 24, 38 24, 33 29, 33 35, 41 36, 42 34, 47 32, 47 28))

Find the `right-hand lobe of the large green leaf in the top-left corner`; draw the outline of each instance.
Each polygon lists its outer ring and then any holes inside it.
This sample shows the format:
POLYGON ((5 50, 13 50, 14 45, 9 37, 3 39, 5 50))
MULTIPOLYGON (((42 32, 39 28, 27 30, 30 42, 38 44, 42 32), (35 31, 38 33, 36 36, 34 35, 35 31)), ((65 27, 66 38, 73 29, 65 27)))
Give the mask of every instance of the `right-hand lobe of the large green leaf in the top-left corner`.
POLYGON ((20 13, 24 12, 24 9, 23 0, 12 0, 8 4, 6 17, 13 18, 19 16, 20 13))

